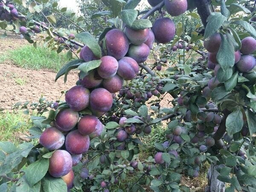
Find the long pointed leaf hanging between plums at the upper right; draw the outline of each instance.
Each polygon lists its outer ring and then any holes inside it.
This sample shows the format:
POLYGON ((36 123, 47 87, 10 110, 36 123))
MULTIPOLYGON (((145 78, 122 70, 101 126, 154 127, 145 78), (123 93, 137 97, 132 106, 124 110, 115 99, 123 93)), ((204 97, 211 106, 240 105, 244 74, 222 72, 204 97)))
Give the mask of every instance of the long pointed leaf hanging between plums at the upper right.
POLYGON ((235 51, 232 42, 221 33, 220 35, 221 47, 217 53, 217 61, 221 65, 221 69, 225 72, 235 64, 235 51))

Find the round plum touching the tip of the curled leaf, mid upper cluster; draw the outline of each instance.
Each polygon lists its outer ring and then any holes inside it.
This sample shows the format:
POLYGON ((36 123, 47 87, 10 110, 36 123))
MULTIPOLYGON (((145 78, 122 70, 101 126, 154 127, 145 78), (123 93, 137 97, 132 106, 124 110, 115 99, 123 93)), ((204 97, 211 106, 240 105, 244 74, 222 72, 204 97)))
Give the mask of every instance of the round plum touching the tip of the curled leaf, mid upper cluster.
POLYGON ((97 68, 99 76, 103 79, 110 79, 116 75, 118 69, 118 62, 115 58, 111 56, 103 56, 101 58, 101 64, 97 68))

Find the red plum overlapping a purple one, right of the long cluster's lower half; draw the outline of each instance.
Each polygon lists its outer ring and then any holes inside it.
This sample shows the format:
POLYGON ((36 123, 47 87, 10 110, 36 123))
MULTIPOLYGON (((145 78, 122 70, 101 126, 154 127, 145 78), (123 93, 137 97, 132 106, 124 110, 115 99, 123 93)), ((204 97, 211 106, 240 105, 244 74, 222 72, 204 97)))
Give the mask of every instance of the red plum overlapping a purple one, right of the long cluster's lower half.
POLYGON ((82 135, 89 135, 102 127, 100 120, 93 115, 85 115, 78 122, 78 131, 82 135))

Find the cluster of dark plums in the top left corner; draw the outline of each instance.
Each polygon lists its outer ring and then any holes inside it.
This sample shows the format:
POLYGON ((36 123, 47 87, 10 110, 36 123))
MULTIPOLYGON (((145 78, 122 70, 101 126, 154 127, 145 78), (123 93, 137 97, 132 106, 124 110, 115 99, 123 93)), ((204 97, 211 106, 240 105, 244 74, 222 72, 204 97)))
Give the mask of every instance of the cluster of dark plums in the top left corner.
POLYGON ((13 4, 0 2, 0 20, 14 21, 17 20, 18 11, 13 4))

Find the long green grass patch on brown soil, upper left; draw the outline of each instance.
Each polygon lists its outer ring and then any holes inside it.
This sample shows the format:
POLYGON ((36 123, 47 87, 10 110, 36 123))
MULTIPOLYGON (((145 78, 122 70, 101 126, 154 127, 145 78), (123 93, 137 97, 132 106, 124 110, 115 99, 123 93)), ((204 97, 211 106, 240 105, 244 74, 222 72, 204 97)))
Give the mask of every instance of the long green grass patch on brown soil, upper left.
POLYGON ((3 55, 0 62, 11 59, 19 67, 33 70, 49 69, 58 72, 58 70, 68 62, 64 53, 58 54, 47 47, 33 47, 26 45, 18 49, 10 50, 7 56, 3 55))

